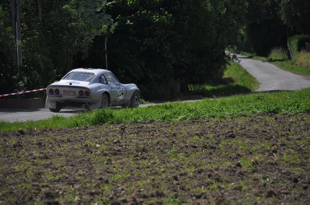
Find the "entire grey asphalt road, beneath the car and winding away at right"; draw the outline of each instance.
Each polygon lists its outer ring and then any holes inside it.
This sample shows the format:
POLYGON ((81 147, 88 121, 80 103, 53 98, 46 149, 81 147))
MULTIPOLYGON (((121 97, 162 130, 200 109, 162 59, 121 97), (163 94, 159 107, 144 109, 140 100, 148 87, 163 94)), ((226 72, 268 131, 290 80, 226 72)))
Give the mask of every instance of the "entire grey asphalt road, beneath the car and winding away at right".
MULTIPOLYGON (((310 78, 292 74, 283 71, 268 62, 255 61, 246 56, 237 55, 240 64, 251 75, 256 77, 259 82, 259 89, 255 91, 272 91, 272 90, 299 90, 301 88, 310 87, 310 78)), ((150 104, 154 105, 154 104, 150 104)), ((140 105, 145 107, 149 105, 140 105)), ((0 121, 7 122, 26 122, 27 120, 48 119, 53 115, 61 115, 65 117, 76 115, 83 112, 81 109, 61 109, 60 112, 54 113, 49 109, 0 109, 0 121)))

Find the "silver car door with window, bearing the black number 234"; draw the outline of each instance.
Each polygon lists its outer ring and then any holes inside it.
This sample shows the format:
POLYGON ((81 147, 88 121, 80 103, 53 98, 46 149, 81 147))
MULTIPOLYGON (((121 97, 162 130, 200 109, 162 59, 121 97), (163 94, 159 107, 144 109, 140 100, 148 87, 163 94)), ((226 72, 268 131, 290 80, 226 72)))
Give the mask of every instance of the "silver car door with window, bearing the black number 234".
POLYGON ((121 104, 126 96, 125 87, 117 80, 113 73, 107 72, 104 73, 104 76, 107 79, 108 84, 111 86, 111 104, 121 104))

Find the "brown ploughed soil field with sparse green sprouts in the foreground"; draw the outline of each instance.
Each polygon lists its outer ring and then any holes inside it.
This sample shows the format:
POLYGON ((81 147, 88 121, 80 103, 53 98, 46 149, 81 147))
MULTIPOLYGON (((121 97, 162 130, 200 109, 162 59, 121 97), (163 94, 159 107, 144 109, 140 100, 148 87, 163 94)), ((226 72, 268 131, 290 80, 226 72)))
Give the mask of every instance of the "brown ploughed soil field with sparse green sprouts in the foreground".
POLYGON ((310 114, 0 133, 0 204, 310 204, 310 114))

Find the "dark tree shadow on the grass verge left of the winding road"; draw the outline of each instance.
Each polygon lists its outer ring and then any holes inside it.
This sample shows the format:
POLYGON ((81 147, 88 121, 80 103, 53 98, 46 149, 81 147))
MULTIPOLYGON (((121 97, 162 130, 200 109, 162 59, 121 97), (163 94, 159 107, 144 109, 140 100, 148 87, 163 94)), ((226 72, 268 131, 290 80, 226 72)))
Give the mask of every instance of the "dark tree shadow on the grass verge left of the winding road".
POLYGON ((206 87, 204 85, 188 85, 186 94, 201 95, 203 97, 223 97, 234 94, 250 93, 252 90, 246 86, 228 84, 215 87, 206 87))

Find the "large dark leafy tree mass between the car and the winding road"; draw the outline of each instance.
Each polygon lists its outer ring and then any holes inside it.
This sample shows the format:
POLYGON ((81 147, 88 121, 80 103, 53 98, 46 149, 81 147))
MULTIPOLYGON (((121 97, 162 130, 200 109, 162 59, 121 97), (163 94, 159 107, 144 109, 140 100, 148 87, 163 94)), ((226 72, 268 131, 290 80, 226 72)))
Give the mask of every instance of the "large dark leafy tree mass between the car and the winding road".
MULTIPOLYGON (((121 82, 134 82, 145 98, 166 98, 171 82, 215 83, 226 69, 224 49, 244 22, 244 1, 121 1, 107 5, 113 33, 108 36, 108 69, 121 82), (236 12, 237 11, 237 12, 236 12), (235 19, 231 21, 231 19, 235 19), (143 93, 143 92, 142 92, 143 93)), ((96 38, 94 56, 83 65, 105 63, 96 38)))

